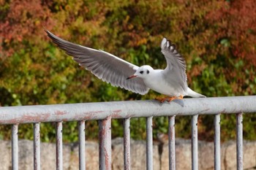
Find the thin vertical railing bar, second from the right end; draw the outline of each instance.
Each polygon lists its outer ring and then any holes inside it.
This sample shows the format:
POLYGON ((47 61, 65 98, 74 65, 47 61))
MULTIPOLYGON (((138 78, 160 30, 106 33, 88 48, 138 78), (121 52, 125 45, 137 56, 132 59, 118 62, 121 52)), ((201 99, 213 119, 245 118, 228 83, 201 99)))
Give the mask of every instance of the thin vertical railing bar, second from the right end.
POLYGON ((220 170, 220 115, 214 117, 214 169, 220 170))

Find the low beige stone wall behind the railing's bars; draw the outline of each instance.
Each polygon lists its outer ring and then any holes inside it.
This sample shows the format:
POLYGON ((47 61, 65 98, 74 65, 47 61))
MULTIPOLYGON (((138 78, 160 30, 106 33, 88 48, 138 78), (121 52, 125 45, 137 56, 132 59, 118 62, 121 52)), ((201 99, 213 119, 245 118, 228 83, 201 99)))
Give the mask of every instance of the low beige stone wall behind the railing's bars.
MULTIPOLYGON (((154 143, 154 169, 168 169, 168 145, 154 143)), ((0 141, 0 170, 9 170, 12 166, 11 142, 0 141)), ((98 169, 99 146, 97 142, 86 142, 86 169, 98 169)), ((236 169, 236 142, 222 144, 222 169, 236 169)), ((78 144, 64 144, 63 146, 64 169, 78 169, 78 144)), ((214 144, 213 142, 198 143, 199 169, 214 169, 214 144)), ((112 169, 123 168, 123 140, 120 138, 112 141, 112 169)), ((41 144, 41 169, 56 169, 55 144, 41 144)), ((131 142, 132 169, 145 169, 146 167, 146 142, 131 142)), ((256 142, 244 141, 244 169, 256 167, 256 142)), ((19 141, 19 169, 33 169, 33 142, 19 141)), ((191 169, 190 140, 176 139, 176 169, 191 169)))

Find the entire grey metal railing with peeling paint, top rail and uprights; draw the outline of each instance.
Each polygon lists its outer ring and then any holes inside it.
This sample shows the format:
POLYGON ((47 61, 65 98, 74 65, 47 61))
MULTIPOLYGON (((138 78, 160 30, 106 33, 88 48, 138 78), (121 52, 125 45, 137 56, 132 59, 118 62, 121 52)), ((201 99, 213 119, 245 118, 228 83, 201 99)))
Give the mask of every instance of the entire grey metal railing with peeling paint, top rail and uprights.
POLYGON ((34 169, 40 169, 39 123, 56 122, 56 169, 63 169, 62 122, 79 123, 79 168, 86 169, 85 121, 99 120, 99 169, 111 169, 111 119, 124 119, 124 169, 130 169, 129 121, 146 117, 146 169, 153 169, 152 117, 169 117, 169 169, 176 169, 175 117, 192 116, 192 169, 198 169, 197 117, 214 115, 214 168, 221 169, 220 115, 236 114, 237 169, 243 169, 242 114, 256 112, 256 96, 185 98, 158 101, 112 101, 86 104, 55 104, 0 107, 0 124, 12 124, 12 169, 18 169, 18 124, 34 123, 34 169))

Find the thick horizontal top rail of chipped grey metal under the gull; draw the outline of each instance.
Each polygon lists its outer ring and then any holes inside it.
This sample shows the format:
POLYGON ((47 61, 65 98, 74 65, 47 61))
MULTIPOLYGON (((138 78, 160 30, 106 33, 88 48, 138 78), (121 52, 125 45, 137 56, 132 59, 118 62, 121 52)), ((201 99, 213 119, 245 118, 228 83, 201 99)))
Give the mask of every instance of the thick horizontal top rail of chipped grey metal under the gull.
POLYGON ((111 101, 86 104, 53 104, 0 107, 0 124, 103 120, 107 117, 151 117, 172 115, 217 115, 256 110, 256 96, 184 98, 159 101, 111 101))

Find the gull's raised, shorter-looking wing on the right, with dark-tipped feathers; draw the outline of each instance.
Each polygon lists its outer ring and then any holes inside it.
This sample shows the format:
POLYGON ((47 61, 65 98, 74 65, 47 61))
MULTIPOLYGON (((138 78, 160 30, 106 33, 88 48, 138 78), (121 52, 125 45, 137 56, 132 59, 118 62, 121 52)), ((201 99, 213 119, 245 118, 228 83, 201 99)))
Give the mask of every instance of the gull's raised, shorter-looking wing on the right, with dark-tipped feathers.
POLYGON ((178 53, 176 46, 166 38, 162 39, 161 49, 161 52, 165 55, 167 61, 167 67, 163 72, 165 80, 169 84, 177 85, 187 92, 186 61, 181 54, 178 53))

